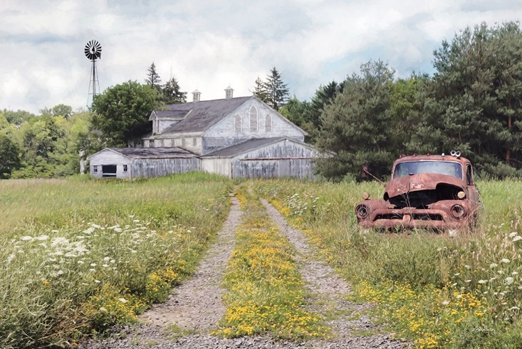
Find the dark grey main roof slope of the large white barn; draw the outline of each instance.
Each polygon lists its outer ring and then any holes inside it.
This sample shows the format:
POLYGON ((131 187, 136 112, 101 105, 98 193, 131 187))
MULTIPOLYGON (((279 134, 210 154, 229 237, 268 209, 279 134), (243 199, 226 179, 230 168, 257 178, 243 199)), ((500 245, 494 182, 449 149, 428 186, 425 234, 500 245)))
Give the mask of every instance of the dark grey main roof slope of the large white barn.
POLYGON ((255 98, 253 96, 223 100, 203 100, 182 104, 168 104, 164 110, 152 111, 149 120, 156 114, 158 118, 181 119, 175 125, 161 132, 202 132, 221 120, 241 104, 255 98))

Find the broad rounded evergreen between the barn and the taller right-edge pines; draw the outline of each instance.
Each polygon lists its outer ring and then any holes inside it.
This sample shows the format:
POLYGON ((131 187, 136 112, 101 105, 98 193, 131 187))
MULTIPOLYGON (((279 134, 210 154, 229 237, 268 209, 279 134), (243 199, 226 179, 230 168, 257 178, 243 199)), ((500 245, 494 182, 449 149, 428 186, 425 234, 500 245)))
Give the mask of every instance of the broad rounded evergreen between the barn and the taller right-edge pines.
POLYGON ((399 155, 391 134, 390 84, 395 70, 382 61, 363 64, 361 75, 344 82, 321 116, 323 130, 317 144, 335 155, 317 162, 319 173, 341 179, 348 173, 359 176, 368 164, 376 176, 386 176, 399 155))

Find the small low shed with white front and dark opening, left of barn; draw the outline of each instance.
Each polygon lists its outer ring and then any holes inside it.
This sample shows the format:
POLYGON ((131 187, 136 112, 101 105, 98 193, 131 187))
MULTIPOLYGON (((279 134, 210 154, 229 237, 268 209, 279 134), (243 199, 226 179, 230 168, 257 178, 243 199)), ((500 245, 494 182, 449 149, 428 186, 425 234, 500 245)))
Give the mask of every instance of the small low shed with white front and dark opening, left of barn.
POLYGON ((105 148, 88 157, 97 178, 168 176, 200 170, 196 154, 182 148, 105 148))

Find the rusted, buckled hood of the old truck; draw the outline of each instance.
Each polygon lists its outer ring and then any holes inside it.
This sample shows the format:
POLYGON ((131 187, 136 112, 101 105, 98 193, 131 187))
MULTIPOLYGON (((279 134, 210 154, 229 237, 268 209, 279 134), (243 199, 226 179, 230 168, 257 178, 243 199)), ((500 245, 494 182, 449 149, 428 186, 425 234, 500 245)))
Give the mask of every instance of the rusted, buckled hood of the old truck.
POLYGON ((466 183, 457 177, 438 173, 419 173, 390 180, 390 183, 386 185, 386 193, 389 198, 393 198, 408 192, 433 190, 440 184, 451 185, 466 191, 466 183))

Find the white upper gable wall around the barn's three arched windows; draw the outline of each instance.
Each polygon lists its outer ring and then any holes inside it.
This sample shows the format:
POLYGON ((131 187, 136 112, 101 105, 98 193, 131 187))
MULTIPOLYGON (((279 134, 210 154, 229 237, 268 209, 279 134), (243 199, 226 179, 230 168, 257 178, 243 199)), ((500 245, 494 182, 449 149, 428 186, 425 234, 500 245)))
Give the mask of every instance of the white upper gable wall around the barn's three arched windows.
POLYGON ((288 137, 297 141, 303 141, 304 136, 305 134, 299 130, 299 127, 287 121, 283 116, 280 116, 280 114, 262 102, 252 99, 251 102, 244 103, 203 134, 203 154, 208 154, 252 138, 288 137), (250 130, 249 112, 252 106, 258 109, 258 131, 255 132, 250 130), (265 127, 267 114, 271 116, 272 120, 271 131, 269 127, 268 132, 267 127, 265 127), (235 132, 234 129, 236 115, 242 118, 241 132, 235 132))

